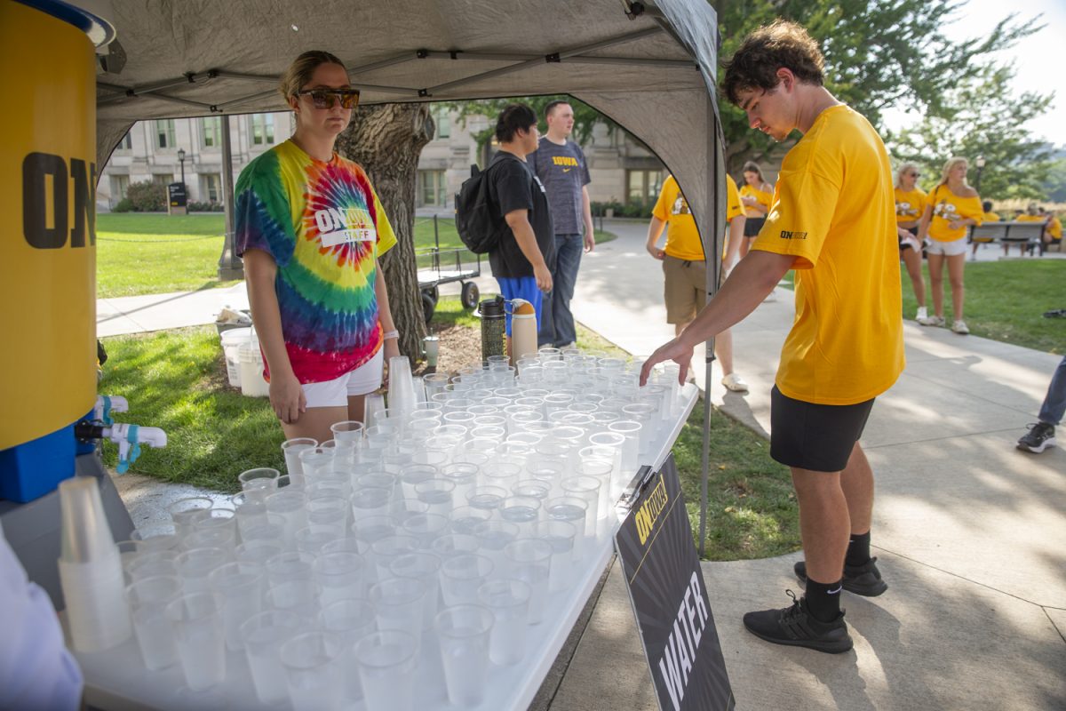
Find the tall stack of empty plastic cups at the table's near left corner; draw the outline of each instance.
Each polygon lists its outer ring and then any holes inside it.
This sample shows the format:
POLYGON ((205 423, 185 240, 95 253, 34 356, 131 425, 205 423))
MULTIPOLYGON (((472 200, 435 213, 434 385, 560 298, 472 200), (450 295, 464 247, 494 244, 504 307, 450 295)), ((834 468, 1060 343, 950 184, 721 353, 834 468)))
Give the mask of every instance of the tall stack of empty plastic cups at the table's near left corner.
POLYGON ((60 484, 60 584, 70 644, 77 651, 110 649, 132 633, 118 548, 93 476, 60 484))

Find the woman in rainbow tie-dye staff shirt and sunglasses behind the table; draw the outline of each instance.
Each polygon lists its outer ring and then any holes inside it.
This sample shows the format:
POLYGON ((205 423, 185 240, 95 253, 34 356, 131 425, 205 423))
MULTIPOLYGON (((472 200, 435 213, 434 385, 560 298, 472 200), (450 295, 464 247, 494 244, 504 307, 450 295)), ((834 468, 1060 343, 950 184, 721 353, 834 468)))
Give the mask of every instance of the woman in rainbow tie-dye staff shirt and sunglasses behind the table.
POLYGON ((399 355, 378 258, 395 244, 361 167, 334 152, 358 102, 328 52, 301 54, 281 78, 292 138, 237 181, 237 245, 266 362, 270 400, 287 437, 333 437, 361 420, 399 355))

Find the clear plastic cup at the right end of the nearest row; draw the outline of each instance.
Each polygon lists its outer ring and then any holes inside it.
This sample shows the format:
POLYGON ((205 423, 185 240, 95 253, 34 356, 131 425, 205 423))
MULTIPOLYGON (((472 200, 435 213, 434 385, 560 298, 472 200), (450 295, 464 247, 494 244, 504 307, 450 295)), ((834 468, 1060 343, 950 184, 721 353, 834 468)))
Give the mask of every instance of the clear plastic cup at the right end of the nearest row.
POLYGON ((479 604, 448 608, 436 617, 445 684, 453 706, 470 708, 485 698, 494 623, 494 613, 479 604))

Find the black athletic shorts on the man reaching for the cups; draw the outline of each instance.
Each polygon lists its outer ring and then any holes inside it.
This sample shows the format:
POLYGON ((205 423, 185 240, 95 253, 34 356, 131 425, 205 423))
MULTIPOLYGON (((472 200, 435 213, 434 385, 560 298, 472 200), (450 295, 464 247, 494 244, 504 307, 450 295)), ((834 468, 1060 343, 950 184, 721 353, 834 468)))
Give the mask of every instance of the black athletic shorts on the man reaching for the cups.
POLYGON ((770 391, 770 456, 787 467, 842 471, 862 436, 873 399, 857 405, 815 405, 770 391))

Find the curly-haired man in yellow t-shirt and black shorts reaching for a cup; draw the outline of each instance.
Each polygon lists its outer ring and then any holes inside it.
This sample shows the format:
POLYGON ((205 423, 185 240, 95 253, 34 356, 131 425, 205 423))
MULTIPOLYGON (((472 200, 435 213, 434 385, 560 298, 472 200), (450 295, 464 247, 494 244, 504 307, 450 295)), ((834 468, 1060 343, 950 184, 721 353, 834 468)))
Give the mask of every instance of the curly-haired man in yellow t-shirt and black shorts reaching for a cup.
POLYGON ((873 472, 859 437, 873 399, 903 371, 895 206, 888 152, 873 127, 823 86, 818 45, 776 20, 741 43, 723 93, 753 129, 803 138, 785 157, 766 224, 704 311, 657 350, 681 366, 692 349, 750 313, 789 271, 796 317, 771 392, 771 455, 792 470, 806 594, 784 610, 744 615, 753 634, 824 652, 852 648, 841 589, 887 588, 870 556, 873 472))

